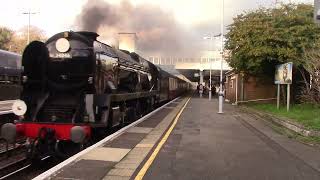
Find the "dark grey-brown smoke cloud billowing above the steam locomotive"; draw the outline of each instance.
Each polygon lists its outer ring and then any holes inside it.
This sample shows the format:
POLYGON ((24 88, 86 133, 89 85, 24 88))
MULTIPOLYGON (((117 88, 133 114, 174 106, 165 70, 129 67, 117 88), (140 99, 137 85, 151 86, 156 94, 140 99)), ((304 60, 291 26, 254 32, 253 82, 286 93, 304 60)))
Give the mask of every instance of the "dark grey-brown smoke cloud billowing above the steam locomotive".
POLYGON ((138 52, 144 55, 187 57, 199 52, 192 33, 177 23, 174 15, 152 4, 134 6, 129 1, 109 4, 88 0, 78 15, 78 29, 100 34, 100 40, 117 44, 119 32, 135 32, 138 52))

